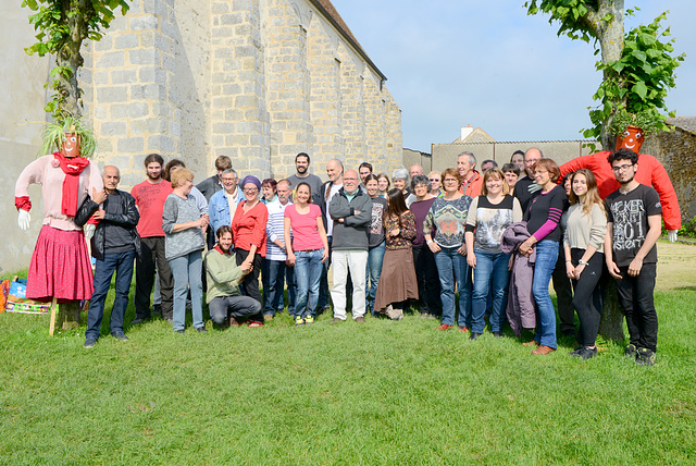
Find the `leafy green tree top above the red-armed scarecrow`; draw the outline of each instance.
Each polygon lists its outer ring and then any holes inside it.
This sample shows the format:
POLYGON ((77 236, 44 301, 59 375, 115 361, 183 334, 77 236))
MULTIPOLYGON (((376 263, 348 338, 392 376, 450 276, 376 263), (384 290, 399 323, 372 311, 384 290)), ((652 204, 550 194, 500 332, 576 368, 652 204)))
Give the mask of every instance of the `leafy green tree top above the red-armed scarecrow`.
POLYGON ((559 36, 595 41, 595 53, 601 57, 596 68, 604 79, 593 96, 599 105, 589 111, 593 126, 583 131, 585 137, 599 138, 605 150, 612 150, 617 132, 625 130, 612 125, 617 116, 644 122, 647 134, 669 130, 661 112, 669 112, 664 98, 685 56, 672 57, 674 39, 669 27, 661 27, 667 13, 624 33, 624 17, 639 10, 624 11, 624 0, 531 0, 525 8, 529 14, 546 13, 549 23, 560 23, 559 36))

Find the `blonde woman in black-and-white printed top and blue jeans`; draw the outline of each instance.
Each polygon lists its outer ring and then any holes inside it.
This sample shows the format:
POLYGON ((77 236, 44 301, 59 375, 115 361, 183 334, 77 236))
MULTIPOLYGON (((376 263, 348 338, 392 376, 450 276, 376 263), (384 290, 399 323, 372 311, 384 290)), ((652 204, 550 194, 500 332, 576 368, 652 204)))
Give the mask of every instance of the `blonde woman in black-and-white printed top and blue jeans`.
POLYGON ((467 217, 467 262, 474 269, 474 291, 471 310, 471 336, 483 333, 486 298, 492 292, 490 331, 502 336, 505 306, 508 302, 510 255, 500 250, 502 232, 522 220, 520 201, 510 196, 502 170, 492 168, 483 175, 481 196, 469 208, 467 217))

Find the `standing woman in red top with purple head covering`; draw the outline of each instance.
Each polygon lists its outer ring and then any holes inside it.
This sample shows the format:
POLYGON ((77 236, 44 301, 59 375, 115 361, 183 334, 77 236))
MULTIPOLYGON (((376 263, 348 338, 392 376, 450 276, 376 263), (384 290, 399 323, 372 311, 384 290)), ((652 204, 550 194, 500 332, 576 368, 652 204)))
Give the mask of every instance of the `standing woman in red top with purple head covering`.
MULTIPOLYGON (((241 180, 241 189, 246 200, 239 203, 232 219, 236 259, 243 270, 251 266, 251 272, 245 275, 241 282, 247 296, 263 304, 259 291, 259 272, 266 250, 265 225, 269 209, 260 201, 261 182, 258 177, 245 176, 241 180)), ((263 322, 250 322, 251 327, 262 324, 263 322)))

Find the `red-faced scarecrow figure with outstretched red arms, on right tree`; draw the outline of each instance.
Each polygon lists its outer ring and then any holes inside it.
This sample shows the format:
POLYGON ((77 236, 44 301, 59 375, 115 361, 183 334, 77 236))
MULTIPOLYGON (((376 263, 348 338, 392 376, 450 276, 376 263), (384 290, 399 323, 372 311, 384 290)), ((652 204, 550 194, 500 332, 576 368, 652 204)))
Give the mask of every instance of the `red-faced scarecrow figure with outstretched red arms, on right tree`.
MULTIPOLYGON (((644 133, 639 127, 629 126, 623 133, 617 136, 617 149, 633 150, 638 155, 638 171, 635 180, 646 186, 652 186, 660 196, 662 205, 662 219, 664 226, 669 232, 671 242, 676 241, 676 232, 682 228, 682 213, 676 200, 676 192, 667 174, 667 170, 655 157, 647 154, 641 154, 644 133)), ((561 165, 561 176, 572 173, 580 169, 588 169, 597 177, 597 187, 599 195, 604 199, 609 194, 619 189, 619 182, 611 171, 611 165, 607 158, 611 154, 610 150, 591 154, 589 156, 577 157, 568 163, 561 165)))

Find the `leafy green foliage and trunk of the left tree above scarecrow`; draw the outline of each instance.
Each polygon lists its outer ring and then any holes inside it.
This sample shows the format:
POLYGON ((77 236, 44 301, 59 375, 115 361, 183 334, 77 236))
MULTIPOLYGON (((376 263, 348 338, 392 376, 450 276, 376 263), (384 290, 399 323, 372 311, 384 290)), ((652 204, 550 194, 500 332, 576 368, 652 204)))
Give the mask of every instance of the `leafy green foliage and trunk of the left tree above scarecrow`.
POLYGON ((53 56, 55 66, 51 70, 54 90, 46 111, 57 121, 64 115, 82 115, 82 89, 77 83, 77 71, 84 64, 80 52, 86 39, 99 40, 115 17, 128 11, 126 0, 23 0, 22 7, 32 10, 29 23, 37 32, 37 41, 25 51, 53 56))

